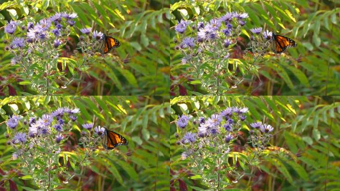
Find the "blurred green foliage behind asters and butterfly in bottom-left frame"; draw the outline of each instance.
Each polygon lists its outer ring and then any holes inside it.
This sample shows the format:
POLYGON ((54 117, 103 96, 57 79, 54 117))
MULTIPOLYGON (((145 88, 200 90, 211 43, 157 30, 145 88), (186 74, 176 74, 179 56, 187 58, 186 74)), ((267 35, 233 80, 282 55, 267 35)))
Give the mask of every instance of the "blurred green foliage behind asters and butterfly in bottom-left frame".
MULTIPOLYGON (((149 96, 11 96, 0 99, 0 182, 8 190, 9 180, 35 188, 21 180, 18 160, 11 160, 13 149, 6 145, 8 115, 34 113, 41 116, 57 107, 80 108, 76 125, 65 142, 73 150, 80 138, 82 124, 106 126, 122 134, 128 146, 114 150, 98 149, 83 169, 85 177, 75 177, 65 191, 168 191, 170 181, 169 97, 149 96)), ((27 130, 26 130, 27 132, 27 130)), ((100 146, 101 147, 101 146, 100 146)), ((0 188, 1 189, 1 188, 0 188)), ((12 191, 12 190, 10 190, 12 191)))

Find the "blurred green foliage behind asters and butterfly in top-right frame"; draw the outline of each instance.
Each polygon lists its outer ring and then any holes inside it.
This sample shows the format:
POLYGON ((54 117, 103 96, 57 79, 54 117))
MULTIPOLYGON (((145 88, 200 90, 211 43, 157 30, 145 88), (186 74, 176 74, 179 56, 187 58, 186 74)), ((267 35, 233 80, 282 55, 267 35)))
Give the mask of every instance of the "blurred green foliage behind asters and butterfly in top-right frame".
MULTIPOLYGON (((247 12, 249 18, 231 58, 239 65, 252 63, 245 56, 251 28, 262 27, 295 40, 296 48, 273 53, 256 61, 257 68, 228 94, 237 95, 340 95, 340 3, 338 0, 171 0, 170 1, 170 95, 207 94, 190 84, 192 70, 181 64, 175 51, 177 20, 210 20, 228 11, 247 12)), ((248 58, 247 58, 248 57, 248 58)), ((233 64, 233 63, 230 63, 233 64)), ((238 76, 242 76, 238 72, 238 76)))

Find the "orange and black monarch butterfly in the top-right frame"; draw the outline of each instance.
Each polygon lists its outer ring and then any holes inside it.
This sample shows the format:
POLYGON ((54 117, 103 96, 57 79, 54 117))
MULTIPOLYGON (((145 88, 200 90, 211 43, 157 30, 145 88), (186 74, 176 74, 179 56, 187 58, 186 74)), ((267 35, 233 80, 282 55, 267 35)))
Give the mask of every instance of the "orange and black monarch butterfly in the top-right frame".
POLYGON ((273 51, 275 54, 281 54, 288 48, 292 48, 296 46, 297 44, 294 40, 288 37, 285 37, 285 36, 273 34, 271 51, 273 51))

